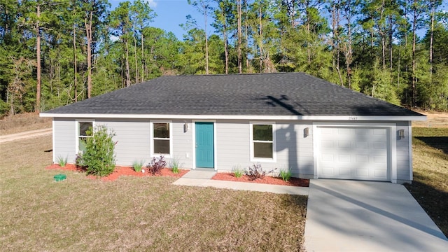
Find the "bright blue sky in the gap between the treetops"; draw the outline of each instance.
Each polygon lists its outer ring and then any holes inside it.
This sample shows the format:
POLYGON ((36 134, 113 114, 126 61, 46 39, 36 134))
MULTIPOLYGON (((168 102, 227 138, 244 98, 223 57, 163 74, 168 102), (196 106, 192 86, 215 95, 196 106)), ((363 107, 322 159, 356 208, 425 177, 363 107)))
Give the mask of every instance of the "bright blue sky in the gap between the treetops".
MULTIPOLYGON (((129 0, 132 2, 132 0, 129 0)), ((111 10, 115 9, 122 0, 109 0, 111 10)), ((197 12, 194 6, 188 4, 187 0, 148 0, 151 8, 157 14, 152 27, 158 27, 165 31, 172 31, 180 40, 186 32, 179 26, 186 22, 186 15, 191 15, 197 21, 197 25, 204 27, 204 16, 197 12)), ((209 18, 211 20, 211 18, 209 18)), ((213 27, 207 27, 207 34, 214 33, 213 27)))

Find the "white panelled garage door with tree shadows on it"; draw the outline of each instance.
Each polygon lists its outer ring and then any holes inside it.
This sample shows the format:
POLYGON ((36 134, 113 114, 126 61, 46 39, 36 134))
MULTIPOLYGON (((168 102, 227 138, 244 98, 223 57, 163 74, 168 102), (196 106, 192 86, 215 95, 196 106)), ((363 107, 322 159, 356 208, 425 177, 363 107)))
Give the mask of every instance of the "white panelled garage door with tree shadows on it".
POLYGON ((385 128, 319 127, 318 176, 388 181, 385 128))

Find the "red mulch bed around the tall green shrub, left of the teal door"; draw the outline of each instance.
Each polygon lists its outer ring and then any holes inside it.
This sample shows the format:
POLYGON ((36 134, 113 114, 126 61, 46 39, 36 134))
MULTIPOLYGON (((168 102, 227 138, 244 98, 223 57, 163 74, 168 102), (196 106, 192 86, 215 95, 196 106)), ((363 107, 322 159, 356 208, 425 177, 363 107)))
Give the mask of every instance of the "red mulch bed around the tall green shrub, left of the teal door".
MULTIPOLYGON (((60 167, 57 164, 50 165, 48 167, 45 167, 45 169, 59 169, 63 171, 72 171, 72 172, 85 172, 83 169, 76 167, 76 165, 66 164, 65 167, 60 167)), ((174 174, 172 172, 172 169, 164 168, 162 169, 162 172, 155 176, 172 176, 176 178, 180 178, 184 174, 186 174, 189 170, 186 169, 179 169, 179 173, 174 174)), ((135 172, 132 167, 121 167, 116 166, 115 171, 113 171, 109 176, 104 176, 101 178, 102 181, 114 181, 118 179, 120 176, 153 176, 151 173, 148 172, 135 172)), ((87 178, 89 179, 97 179, 96 176, 88 175, 87 178)))

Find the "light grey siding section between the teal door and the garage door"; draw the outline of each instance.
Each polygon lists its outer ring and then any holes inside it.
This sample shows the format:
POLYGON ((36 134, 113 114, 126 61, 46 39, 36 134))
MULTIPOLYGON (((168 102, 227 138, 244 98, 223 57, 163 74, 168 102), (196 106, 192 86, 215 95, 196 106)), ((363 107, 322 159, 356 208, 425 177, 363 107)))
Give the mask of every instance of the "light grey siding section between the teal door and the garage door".
MULTIPOLYGON (((255 122, 255 121, 254 121, 255 122)), ((267 122, 268 123, 268 122, 267 122)), ((276 123, 276 162, 260 162, 262 168, 290 168, 295 176, 312 176, 313 144, 312 134, 304 137, 304 128, 312 128, 311 123, 276 123)), ((250 127, 247 120, 218 120, 217 153, 218 170, 232 171, 233 167, 246 168, 253 164, 250 153, 250 127)))

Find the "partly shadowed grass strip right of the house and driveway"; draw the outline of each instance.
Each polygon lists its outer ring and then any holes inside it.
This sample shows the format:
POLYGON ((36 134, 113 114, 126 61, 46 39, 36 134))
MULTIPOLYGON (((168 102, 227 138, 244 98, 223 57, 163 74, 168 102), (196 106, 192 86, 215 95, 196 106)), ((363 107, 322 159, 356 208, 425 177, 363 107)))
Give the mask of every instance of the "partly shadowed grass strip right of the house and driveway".
POLYGON ((448 236, 448 128, 413 127, 414 181, 406 188, 448 236))

